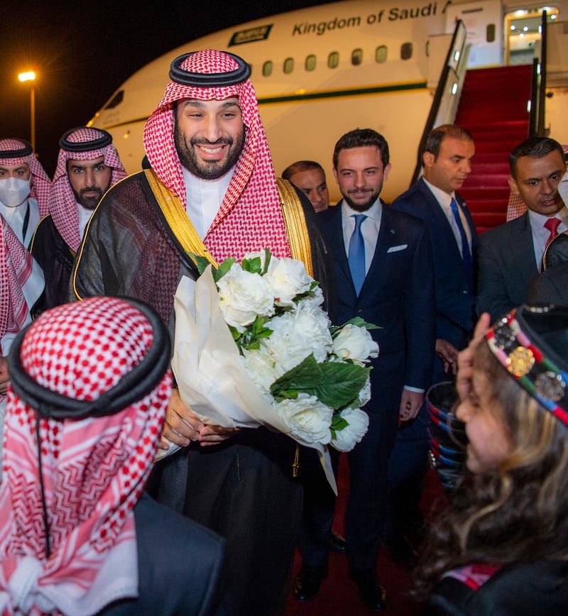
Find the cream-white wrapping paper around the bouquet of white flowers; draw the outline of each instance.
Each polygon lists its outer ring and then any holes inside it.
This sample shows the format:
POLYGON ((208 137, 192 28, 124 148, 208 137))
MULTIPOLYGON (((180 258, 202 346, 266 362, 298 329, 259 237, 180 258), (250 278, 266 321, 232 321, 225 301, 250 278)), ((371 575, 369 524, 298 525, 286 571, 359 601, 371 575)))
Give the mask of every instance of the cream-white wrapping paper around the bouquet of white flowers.
MULTIPOLYGON (((246 373, 239 349, 219 310, 211 266, 197 281, 182 277, 175 292, 172 369, 182 401, 205 424, 223 427, 268 426, 288 434, 290 427, 246 373)), ((327 447, 295 438, 317 449, 329 485, 337 494, 327 447)), ((180 449, 170 444, 156 459, 180 449)), ((292 461, 290 461, 290 467, 292 461)))

